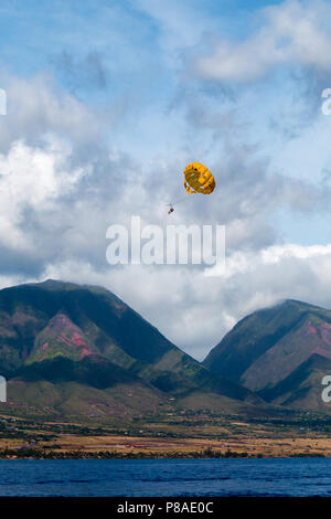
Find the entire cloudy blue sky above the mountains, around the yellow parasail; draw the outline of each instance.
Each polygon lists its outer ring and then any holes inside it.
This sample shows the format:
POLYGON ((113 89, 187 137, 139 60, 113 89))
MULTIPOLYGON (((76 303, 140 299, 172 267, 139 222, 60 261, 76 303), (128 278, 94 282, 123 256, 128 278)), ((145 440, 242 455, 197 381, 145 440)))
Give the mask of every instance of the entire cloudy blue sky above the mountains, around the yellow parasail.
POLYGON ((199 358, 281 298, 331 307, 330 1, 2 0, 0 21, 1 286, 105 285, 199 358), (217 190, 173 223, 225 224, 227 276, 110 269, 107 226, 166 225, 193 160, 217 190))

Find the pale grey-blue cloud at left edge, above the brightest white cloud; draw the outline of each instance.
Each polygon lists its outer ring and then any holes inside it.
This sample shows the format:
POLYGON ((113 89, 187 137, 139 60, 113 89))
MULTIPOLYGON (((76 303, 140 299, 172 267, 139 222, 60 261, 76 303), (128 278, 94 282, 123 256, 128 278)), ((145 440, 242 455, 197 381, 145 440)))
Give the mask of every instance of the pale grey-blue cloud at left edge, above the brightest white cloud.
POLYGON ((0 150, 7 151, 15 140, 39 144, 45 134, 61 136, 83 147, 96 141, 103 117, 74 96, 63 92, 45 75, 29 80, 1 74, 6 87, 7 116, 0 125, 0 150))

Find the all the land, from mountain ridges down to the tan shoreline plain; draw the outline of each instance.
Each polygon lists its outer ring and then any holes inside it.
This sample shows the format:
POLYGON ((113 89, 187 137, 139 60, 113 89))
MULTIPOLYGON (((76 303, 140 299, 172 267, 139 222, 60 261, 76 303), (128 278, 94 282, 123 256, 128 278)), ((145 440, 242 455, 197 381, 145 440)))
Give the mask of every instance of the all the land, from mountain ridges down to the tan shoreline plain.
POLYGON ((6 456, 331 455, 331 310, 307 303, 247 316, 201 363, 102 287, 4 288, 0 374, 6 456))

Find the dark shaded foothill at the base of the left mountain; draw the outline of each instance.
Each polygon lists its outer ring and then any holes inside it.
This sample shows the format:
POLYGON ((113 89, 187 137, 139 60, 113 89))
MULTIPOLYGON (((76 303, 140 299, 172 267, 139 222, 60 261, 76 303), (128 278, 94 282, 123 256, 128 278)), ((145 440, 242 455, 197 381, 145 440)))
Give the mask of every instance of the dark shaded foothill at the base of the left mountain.
POLYGON ((102 357, 75 361, 63 356, 22 366, 8 382, 2 412, 129 420, 169 406, 169 399, 102 357))

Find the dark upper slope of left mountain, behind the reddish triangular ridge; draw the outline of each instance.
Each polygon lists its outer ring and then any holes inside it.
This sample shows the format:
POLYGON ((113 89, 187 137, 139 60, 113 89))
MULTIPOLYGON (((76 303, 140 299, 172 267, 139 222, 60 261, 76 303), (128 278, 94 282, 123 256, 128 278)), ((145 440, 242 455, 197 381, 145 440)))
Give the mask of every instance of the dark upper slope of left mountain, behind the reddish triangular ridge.
POLYGON ((18 367, 31 353, 35 335, 64 311, 100 353, 124 353, 154 362, 173 347, 154 327, 100 287, 47 280, 0 290, 0 369, 18 367), (145 345, 142 348, 141 345, 145 345))

